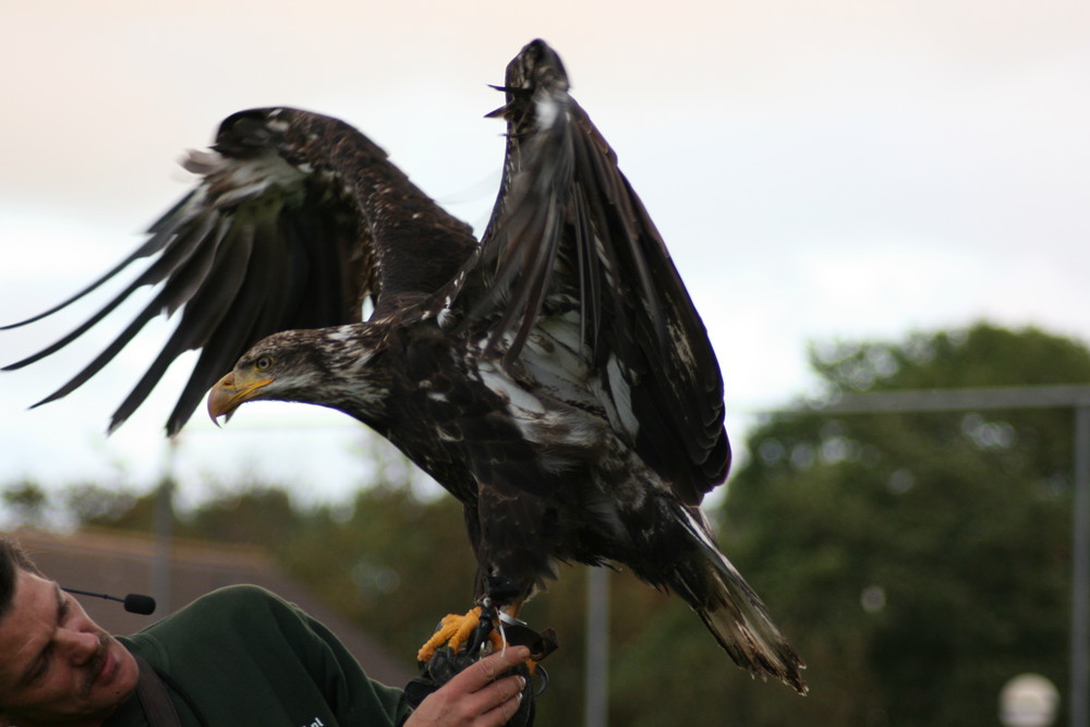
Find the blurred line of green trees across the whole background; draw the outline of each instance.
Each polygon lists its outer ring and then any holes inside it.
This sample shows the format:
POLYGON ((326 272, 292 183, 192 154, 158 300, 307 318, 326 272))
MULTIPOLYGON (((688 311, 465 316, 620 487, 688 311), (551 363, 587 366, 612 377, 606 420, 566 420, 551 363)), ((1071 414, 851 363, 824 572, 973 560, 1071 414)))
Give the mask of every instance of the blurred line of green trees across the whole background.
MULTIPOLYGON (((894 389, 1090 383, 1090 352, 1037 329, 979 324, 811 353, 823 396, 894 389)), ((997 724, 1010 677, 1067 687, 1070 410, 767 416, 744 443, 717 519, 723 549, 809 664, 796 696, 730 664, 699 619, 620 572, 611 579, 616 725, 997 724)), ((382 470, 380 470, 382 471, 382 470)), ((379 476, 349 504, 303 507, 288 484, 251 484, 177 516, 185 537, 256 544, 395 654, 411 659, 447 611, 464 610, 473 564, 452 498, 379 476)), ((100 486, 49 502, 3 493, 23 522, 64 510, 148 530, 153 496, 100 486)), ((523 611, 561 650, 538 725, 582 719, 585 578, 523 611)), ((1063 719, 1063 715, 1061 715, 1063 719)))

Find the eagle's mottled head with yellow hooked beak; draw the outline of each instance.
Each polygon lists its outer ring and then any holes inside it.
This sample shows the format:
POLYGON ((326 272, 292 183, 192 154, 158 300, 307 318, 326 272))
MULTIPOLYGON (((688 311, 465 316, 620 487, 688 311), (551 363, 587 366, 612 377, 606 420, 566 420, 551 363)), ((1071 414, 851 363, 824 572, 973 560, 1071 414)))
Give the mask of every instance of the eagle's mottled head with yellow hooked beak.
MULTIPOLYGON (((255 343, 208 392, 214 422, 254 400, 339 409, 364 421, 380 416, 385 387, 368 365, 383 336, 368 324, 287 330, 255 343)), ((217 422, 218 423, 218 422, 217 422)))

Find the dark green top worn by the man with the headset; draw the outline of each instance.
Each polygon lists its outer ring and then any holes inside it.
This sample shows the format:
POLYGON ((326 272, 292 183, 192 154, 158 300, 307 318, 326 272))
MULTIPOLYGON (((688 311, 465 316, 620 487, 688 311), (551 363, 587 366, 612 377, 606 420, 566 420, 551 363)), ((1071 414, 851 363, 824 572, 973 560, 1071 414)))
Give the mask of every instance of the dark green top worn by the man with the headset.
MULTIPOLYGON (((238 585, 121 639, 166 677, 183 727, 372 727, 409 714, 322 623, 268 591, 238 585)), ((147 725, 133 693, 106 727, 147 725)))

